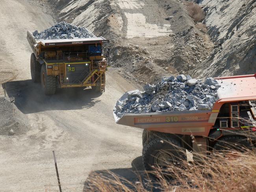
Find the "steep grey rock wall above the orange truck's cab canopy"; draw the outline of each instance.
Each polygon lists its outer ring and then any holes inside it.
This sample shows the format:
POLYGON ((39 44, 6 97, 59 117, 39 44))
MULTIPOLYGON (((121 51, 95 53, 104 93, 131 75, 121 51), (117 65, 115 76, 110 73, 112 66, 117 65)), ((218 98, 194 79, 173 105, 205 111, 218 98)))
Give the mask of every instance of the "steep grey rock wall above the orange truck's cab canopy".
POLYGON ((215 43, 195 76, 256 73, 256 0, 200 0, 205 24, 215 43))

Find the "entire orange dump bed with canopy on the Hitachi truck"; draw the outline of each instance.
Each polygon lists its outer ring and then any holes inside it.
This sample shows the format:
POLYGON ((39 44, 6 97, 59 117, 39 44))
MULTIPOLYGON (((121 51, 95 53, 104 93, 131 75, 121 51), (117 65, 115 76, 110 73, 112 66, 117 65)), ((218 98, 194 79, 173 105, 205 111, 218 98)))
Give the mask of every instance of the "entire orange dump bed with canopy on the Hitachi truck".
POLYGON ((212 110, 125 113, 117 124, 182 135, 208 136, 224 103, 256 100, 256 74, 215 78, 221 84, 212 110))

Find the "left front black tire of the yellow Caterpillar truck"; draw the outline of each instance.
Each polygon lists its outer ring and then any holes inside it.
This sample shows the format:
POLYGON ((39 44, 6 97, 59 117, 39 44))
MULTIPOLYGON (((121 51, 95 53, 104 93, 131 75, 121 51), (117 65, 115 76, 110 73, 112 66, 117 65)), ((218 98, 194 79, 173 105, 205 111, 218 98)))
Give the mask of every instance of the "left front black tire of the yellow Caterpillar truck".
POLYGON ((56 92, 56 77, 47 75, 45 65, 41 68, 41 86, 46 95, 53 95, 56 92))

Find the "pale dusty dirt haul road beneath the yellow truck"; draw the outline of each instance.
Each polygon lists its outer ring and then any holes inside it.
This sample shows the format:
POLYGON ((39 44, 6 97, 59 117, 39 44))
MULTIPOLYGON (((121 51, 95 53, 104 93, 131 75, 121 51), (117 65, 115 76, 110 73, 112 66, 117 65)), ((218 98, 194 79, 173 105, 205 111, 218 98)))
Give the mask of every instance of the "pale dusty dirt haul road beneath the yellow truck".
POLYGON ((81 89, 43 95, 30 78, 26 40, 26 30, 53 24, 41 9, 25 0, 1 0, 0 58, 17 74, 7 83, 7 94, 31 128, 23 135, 0 135, 0 191, 58 191, 52 150, 65 191, 82 191, 88 175, 98 170, 132 177, 132 162, 141 163, 142 131, 115 124, 112 111, 117 98, 134 87, 110 70, 101 96, 81 89))

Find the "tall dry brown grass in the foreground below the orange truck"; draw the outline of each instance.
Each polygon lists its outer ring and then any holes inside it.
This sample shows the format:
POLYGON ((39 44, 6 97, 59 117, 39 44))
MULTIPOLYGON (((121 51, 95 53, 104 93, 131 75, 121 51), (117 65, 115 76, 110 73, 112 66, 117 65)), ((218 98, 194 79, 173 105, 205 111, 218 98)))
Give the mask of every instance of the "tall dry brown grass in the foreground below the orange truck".
POLYGON ((182 161, 182 166, 171 165, 164 172, 155 169, 138 174, 137 181, 106 172, 89 178, 88 191, 146 192, 254 192, 256 191, 256 155, 252 151, 219 152, 203 156, 203 162, 182 161), (168 177, 169 176, 169 177, 168 177))

